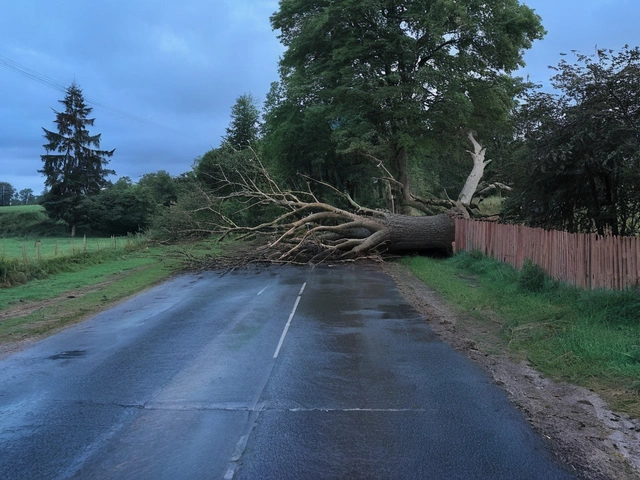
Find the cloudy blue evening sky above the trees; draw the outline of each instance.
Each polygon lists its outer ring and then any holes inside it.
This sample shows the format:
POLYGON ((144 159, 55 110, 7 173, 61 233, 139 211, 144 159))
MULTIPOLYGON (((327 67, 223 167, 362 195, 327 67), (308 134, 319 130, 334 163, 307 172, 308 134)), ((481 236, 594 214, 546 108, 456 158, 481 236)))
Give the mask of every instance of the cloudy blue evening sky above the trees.
MULTIPOLYGON (((93 107, 109 168, 134 182, 189 171, 219 145, 243 94, 260 103, 284 49, 277 0, 0 0, 0 182, 38 194, 42 128, 72 82, 93 107)), ((547 30, 516 74, 549 84, 550 65, 640 45, 638 0, 521 0, 547 30), (561 53, 569 54, 561 57, 561 53)))

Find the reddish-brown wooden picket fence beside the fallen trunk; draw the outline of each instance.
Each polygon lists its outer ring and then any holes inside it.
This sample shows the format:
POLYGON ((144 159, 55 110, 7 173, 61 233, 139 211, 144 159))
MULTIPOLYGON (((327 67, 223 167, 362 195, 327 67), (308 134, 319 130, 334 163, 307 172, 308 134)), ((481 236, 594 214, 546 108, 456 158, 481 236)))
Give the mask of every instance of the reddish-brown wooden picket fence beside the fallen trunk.
POLYGON ((552 278, 581 288, 624 290, 640 285, 640 237, 457 219, 454 248, 480 250, 517 269, 530 259, 552 278))

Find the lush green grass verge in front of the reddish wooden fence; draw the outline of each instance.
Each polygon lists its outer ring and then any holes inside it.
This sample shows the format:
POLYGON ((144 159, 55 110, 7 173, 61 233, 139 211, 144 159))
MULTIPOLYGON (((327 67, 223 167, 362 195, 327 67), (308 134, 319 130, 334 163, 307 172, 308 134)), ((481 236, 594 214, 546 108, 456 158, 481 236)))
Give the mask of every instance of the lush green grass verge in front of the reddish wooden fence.
POLYGON ((640 295, 581 291, 535 266, 521 272, 482 255, 405 260, 424 283, 493 328, 499 345, 547 376, 597 391, 640 418, 640 295))

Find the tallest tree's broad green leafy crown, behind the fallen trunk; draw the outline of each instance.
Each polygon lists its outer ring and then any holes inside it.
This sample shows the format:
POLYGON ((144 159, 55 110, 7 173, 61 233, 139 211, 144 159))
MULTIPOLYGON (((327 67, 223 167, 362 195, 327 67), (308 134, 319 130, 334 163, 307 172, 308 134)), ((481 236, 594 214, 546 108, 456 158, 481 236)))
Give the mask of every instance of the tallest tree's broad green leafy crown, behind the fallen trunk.
POLYGON ((509 72, 544 33, 517 0, 282 0, 271 21, 287 50, 265 106, 266 154, 285 175, 347 191, 375 190, 384 166, 404 198, 411 164, 432 157, 446 178, 469 129, 505 127, 523 88, 509 72))

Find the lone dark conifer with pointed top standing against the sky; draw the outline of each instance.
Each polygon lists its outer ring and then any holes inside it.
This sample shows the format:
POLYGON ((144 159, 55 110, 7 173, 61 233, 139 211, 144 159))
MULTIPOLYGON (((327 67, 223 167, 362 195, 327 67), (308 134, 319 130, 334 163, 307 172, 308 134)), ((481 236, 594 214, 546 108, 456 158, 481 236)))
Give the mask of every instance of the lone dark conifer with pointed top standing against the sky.
POLYGON ((107 185, 106 177, 115 173, 105 168, 115 150, 100 150, 100 134, 91 135, 87 130, 94 123, 88 118, 92 108, 85 104, 78 85, 71 84, 60 103, 64 111, 54 110, 57 132, 43 128, 47 153, 41 156, 43 168, 38 171, 46 177, 48 191, 42 204, 47 214, 64 220, 75 233, 84 216, 81 203, 98 194, 107 185))

